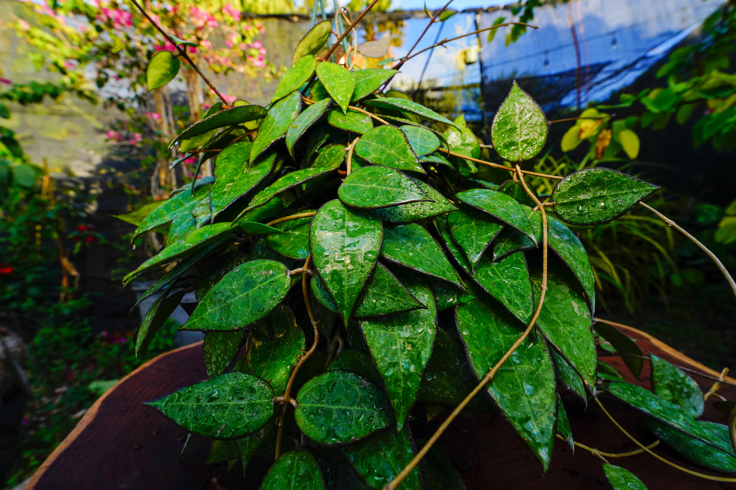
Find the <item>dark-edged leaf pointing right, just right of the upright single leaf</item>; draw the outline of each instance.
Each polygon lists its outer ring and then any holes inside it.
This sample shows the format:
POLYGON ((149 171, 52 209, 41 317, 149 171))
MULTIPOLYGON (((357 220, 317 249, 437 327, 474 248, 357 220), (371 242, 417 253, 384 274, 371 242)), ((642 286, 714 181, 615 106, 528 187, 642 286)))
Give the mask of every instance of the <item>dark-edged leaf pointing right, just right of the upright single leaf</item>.
POLYGON ((554 210, 570 224, 601 224, 621 216, 659 186, 610 168, 573 172, 552 191, 554 210))

